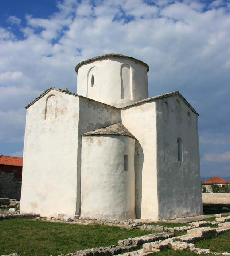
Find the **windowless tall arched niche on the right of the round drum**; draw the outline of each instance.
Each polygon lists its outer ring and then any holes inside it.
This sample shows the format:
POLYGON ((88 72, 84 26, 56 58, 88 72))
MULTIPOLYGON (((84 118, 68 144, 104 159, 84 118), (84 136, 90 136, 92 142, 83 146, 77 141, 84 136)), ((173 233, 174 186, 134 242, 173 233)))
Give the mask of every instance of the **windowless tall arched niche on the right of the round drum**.
POLYGON ((128 64, 121 66, 121 99, 132 99, 131 69, 128 64))

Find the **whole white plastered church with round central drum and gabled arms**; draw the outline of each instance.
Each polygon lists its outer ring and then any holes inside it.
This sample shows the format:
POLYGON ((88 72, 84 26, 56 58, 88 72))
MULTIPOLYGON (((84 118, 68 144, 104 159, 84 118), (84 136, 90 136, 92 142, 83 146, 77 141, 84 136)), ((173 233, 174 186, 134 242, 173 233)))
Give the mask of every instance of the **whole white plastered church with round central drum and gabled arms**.
POLYGON ((178 92, 148 98, 144 62, 105 54, 76 66, 77 94, 26 106, 20 212, 103 219, 202 214, 198 113, 178 92))

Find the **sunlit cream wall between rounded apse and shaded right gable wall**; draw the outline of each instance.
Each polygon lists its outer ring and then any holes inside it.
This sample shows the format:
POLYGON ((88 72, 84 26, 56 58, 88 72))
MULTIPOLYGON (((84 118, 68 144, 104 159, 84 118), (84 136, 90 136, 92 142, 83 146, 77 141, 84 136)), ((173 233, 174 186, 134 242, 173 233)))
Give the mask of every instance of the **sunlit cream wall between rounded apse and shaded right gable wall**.
POLYGON ((122 124, 135 136, 136 217, 157 219, 156 103, 121 110, 122 124))

